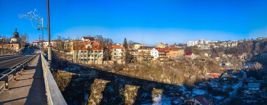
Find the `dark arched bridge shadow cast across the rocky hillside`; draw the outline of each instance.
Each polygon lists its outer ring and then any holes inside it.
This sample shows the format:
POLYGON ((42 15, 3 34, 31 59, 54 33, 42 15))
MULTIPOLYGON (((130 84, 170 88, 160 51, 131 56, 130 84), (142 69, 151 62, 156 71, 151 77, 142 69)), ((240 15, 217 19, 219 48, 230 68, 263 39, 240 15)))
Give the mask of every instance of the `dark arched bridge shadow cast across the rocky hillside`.
MULTIPOLYGON (((69 72, 77 73, 77 71, 69 72)), ((71 82, 65 88, 65 91, 62 91, 62 94, 67 103, 81 104, 82 101, 84 101, 84 97, 85 99, 88 98, 84 93, 87 93, 89 98, 91 95, 98 94, 90 89, 96 79, 108 81, 106 82, 104 89, 100 90, 102 91, 103 96, 100 101, 101 105, 125 104, 125 97, 123 94, 120 94, 120 92, 121 89, 125 88, 126 85, 133 85, 138 87, 136 92, 137 95, 135 96, 135 102, 133 103, 134 105, 153 104, 152 92, 154 89, 161 89, 163 90, 162 93, 164 93, 170 91, 170 89, 166 87, 178 86, 90 68, 89 70, 87 69, 83 72, 72 75, 71 82), (86 75, 90 73, 94 75, 86 75)))

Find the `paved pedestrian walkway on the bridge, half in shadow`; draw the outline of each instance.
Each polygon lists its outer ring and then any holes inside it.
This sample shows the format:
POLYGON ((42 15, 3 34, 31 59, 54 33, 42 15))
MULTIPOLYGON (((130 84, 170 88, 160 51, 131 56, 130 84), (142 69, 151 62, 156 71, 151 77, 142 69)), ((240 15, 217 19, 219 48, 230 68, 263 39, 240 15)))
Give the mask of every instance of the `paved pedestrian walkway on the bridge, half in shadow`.
POLYGON ((8 82, 9 90, 1 90, 0 104, 46 105, 46 91, 40 54, 17 75, 17 81, 8 82))

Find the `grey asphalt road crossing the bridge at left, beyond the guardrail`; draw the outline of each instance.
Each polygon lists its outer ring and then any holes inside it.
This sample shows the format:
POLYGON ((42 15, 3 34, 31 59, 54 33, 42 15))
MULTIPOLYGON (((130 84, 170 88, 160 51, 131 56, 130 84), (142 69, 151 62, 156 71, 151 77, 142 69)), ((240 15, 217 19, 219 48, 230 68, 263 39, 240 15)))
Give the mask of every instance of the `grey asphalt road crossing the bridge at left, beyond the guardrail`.
POLYGON ((35 53, 39 51, 38 49, 29 49, 29 52, 32 52, 32 55, 25 54, 20 57, 15 57, 15 58, 10 58, 6 60, 0 61, 0 73, 10 69, 11 67, 16 66, 17 64, 20 64, 21 62, 27 60, 28 58, 32 57, 35 55, 35 53))

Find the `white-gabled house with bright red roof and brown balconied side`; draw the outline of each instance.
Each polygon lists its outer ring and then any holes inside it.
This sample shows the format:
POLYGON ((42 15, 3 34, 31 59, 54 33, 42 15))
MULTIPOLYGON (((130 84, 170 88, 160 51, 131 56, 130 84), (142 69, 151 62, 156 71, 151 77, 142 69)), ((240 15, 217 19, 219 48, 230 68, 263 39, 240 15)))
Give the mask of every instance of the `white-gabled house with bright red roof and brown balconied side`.
POLYGON ((154 59, 160 58, 161 60, 164 60, 165 58, 167 58, 168 52, 170 52, 168 51, 168 49, 154 47, 153 49, 151 49, 150 55, 152 55, 154 59))

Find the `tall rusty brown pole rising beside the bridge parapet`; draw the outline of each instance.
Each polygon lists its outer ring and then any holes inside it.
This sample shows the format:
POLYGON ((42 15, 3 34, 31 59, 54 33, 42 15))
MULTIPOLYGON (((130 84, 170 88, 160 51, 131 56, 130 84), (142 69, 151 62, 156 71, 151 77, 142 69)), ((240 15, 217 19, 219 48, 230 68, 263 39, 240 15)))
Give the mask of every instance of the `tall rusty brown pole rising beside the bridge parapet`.
POLYGON ((47 23, 48 23, 48 49, 47 49, 47 55, 48 55, 48 62, 50 64, 51 69, 51 62, 52 62, 52 45, 50 43, 50 18, 49 18, 49 0, 47 0, 47 23))

